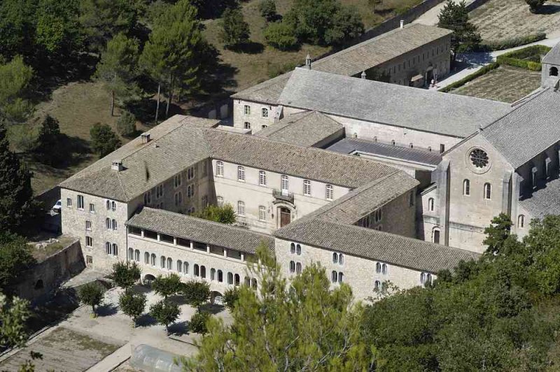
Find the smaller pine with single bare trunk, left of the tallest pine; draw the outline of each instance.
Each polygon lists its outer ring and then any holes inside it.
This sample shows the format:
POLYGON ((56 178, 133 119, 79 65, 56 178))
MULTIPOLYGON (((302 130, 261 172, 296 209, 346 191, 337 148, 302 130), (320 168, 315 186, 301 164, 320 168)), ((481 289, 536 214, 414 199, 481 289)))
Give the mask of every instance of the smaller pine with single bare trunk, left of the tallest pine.
POLYGON ((124 103, 139 94, 136 83, 138 57, 138 41, 122 33, 113 37, 102 53, 94 78, 111 92, 111 116, 115 111, 116 95, 124 103))

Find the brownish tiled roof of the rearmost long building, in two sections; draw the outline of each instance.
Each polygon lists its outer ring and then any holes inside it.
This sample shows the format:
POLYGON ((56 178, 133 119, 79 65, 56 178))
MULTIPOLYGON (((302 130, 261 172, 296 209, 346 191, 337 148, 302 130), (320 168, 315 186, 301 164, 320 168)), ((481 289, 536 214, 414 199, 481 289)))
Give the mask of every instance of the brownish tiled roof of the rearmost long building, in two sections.
MULTIPOLYGON (((440 29, 425 24, 410 23, 402 29, 394 29, 380 36, 370 38, 362 43, 340 50, 327 57, 317 59, 311 68, 317 71, 336 73, 344 76, 356 76, 372 67, 398 57, 406 52, 420 48, 426 43, 451 34, 447 29, 440 29)), ((291 71, 265 81, 232 95, 234 99, 246 99, 269 104, 276 104, 279 96, 290 78, 291 71)))

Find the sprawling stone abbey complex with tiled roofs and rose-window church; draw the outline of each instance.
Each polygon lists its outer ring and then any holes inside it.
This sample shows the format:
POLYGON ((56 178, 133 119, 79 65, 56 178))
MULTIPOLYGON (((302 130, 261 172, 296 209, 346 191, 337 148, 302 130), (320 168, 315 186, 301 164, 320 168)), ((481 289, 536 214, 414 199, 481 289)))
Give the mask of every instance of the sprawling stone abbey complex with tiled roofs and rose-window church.
POLYGON ((479 257, 498 213, 521 236, 560 213, 559 48, 541 89, 513 105, 308 62, 235 94, 234 127, 176 115, 65 180, 62 231, 95 269, 135 261, 144 279, 175 272, 216 294, 259 285, 259 245, 286 276, 321 263, 357 299, 423 285, 479 257), (191 216, 226 203, 234 225, 191 216))

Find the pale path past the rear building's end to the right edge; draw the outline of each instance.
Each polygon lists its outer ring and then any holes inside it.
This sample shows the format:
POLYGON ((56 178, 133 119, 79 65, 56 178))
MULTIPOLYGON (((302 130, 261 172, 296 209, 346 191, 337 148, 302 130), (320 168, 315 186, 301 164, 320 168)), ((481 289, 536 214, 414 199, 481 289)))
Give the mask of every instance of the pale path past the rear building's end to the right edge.
POLYGON ((479 69, 482 69, 483 66, 490 64, 491 62, 496 61, 496 57, 498 55, 503 55, 504 53, 511 52, 512 50, 518 50, 521 48, 526 48, 531 45, 547 45, 549 47, 553 47, 557 43, 560 43, 560 37, 558 34, 554 34, 554 38, 547 38, 545 40, 537 41, 535 43, 521 45, 519 47, 505 49, 505 50, 495 50, 493 52, 476 52, 476 53, 463 53, 458 55, 458 61, 470 64, 470 66, 466 69, 458 71, 453 75, 445 78, 444 80, 438 81, 435 87, 430 87, 430 90, 440 90, 451 83, 455 83, 466 76, 469 76, 471 73, 475 73, 479 69))

